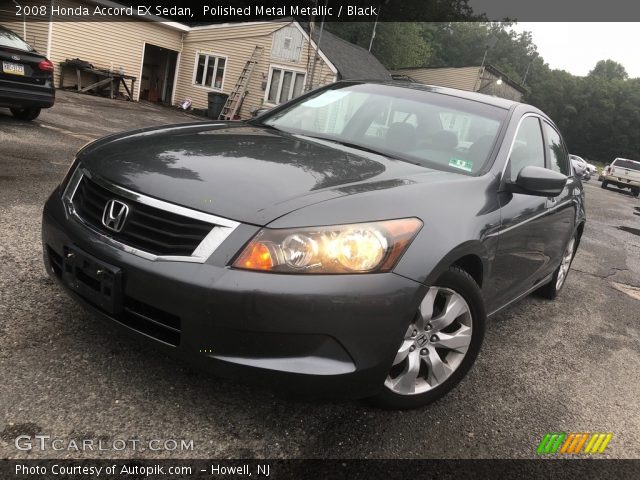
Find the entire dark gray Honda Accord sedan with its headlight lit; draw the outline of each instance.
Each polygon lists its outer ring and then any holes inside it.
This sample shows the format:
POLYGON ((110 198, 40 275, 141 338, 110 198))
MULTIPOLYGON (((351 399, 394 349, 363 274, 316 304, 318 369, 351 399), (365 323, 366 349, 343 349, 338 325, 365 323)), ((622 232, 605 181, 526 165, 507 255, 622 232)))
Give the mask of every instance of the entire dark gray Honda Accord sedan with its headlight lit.
POLYGON ((44 255, 95 315, 220 375, 412 408, 460 382, 487 317, 558 294, 583 195, 534 107, 338 82, 85 146, 44 255))

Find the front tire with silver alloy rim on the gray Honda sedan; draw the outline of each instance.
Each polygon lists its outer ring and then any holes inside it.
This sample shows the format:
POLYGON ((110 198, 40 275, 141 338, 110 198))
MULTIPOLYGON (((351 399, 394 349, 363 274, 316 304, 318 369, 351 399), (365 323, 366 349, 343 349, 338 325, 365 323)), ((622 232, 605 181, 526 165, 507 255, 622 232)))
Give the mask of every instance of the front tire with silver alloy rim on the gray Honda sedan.
POLYGON ((371 401, 382 408, 405 410, 445 395, 475 362, 485 319, 478 284, 461 268, 450 267, 427 291, 383 390, 371 401))

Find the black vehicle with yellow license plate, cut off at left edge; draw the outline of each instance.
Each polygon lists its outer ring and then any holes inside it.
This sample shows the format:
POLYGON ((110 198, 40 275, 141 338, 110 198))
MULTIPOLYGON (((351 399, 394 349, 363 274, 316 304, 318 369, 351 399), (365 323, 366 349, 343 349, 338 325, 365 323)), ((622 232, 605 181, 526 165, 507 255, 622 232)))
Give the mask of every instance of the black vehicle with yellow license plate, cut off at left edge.
POLYGON ((53 63, 0 26, 0 107, 9 107, 20 120, 33 120, 53 106, 53 63))

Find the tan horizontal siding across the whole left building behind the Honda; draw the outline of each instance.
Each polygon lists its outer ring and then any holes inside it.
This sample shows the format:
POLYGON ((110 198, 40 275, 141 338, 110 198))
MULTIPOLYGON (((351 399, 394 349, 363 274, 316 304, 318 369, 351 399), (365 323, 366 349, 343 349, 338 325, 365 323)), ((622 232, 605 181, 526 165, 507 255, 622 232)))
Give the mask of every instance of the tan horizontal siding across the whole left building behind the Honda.
MULTIPOLYGON (((95 4, 81 0, 53 1, 55 5, 65 7, 79 5, 95 7, 95 4)), ((7 17, 6 12, 0 12, 0 15, 3 15, 0 16, 0 23, 22 34, 22 22, 15 22, 7 17)), ((223 24, 195 27, 188 32, 183 32, 160 22, 140 19, 123 22, 80 20, 52 22, 50 37, 48 21, 27 23, 27 40, 32 41, 39 51, 50 52, 50 60, 55 65, 56 86, 60 84, 60 63, 66 59, 80 58, 98 68, 113 68, 118 71, 122 67, 125 74, 135 76, 133 96, 137 99, 141 84, 145 42, 180 52, 174 88, 175 103, 191 98, 193 107, 202 109, 208 106, 208 93, 218 90, 194 85, 196 54, 202 52, 226 57, 221 91, 229 94, 234 89, 255 47, 262 46, 262 57, 251 76, 247 88, 248 94, 239 112, 242 118, 250 117, 252 109, 266 103, 263 83, 266 84, 269 80, 272 67, 304 72, 306 75, 313 72, 312 81, 305 78, 307 87, 326 85, 336 79, 334 69, 322 58, 322 55, 316 55, 313 44, 309 43, 306 35, 302 34, 298 26, 291 21, 223 24), (276 34, 275 49, 273 48, 274 33, 276 34), (299 50, 297 55, 291 55, 290 52, 285 55, 282 51, 279 37, 289 35, 292 37, 294 46, 299 50), (49 38, 51 41, 48 43, 49 38), (300 45, 299 48, 298 45, 300 45)), ((87 85, 91 80, 92 78, 87 75, 83 78, 83 85, 87 85)), ((64 86, 73 86, 76 83, 75 75, 71 73, 65 75, 64 86)))

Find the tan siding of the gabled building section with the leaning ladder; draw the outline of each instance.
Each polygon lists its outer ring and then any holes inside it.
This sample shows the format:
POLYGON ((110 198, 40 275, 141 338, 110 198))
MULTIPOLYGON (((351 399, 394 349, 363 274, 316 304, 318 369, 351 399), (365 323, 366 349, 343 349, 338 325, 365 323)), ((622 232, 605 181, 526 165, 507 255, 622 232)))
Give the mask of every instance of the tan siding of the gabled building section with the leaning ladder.
MULTIPOLYGON (((271 66, 302 72, 310 71, 307 60, 310 56, 309 53, 313 58, 315 51, 310 48, 306 39, 302 42, 298 61, 272 58, 273 34, 288 25, 291 25, 291 22, 256 22, 193 28, 184 38, 176 84, 176 102, 190 98, 194 107, 205 109, 208 106, 209 92, 222 91, 226 94, 231 93, 255 47, 262 46, 262 57, 253 71, 247 87, 248 94, 240 111, 242 118, 250 117, 251 110, 262 106, 264 103, 265 90, 263 90, 262 84, 263 81, 265 83, 268 81, 271 66), (193 84, 198 52, 226 57, 227 66, 221 90, 193 84)), ((320 60, 314 73, 314 85, 331 83, 334 81, 334 76, 330 67, 323 60, 320 60)))

